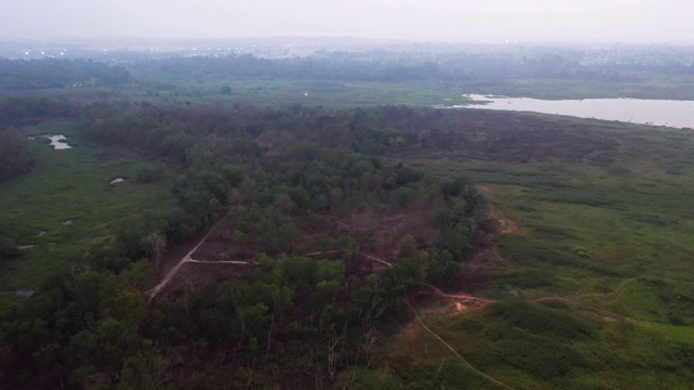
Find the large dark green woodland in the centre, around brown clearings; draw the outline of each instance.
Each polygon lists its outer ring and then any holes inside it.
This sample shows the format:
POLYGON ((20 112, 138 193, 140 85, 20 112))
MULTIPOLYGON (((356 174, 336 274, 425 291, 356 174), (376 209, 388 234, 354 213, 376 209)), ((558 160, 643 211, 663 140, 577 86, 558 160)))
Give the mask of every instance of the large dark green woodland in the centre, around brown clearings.
POLYGON ((480 198, 465 180, 382 161, 408 140, 411 129, 381 121, 401 109, 86 107, 80 136, 139 148, 178 170, 179 208, 124 221, 114 232, 119 245, 90 250, 3 312, 0 382, 323 388, 378 362, 383 325, 406 315, 401 299, 427 283, 460 283, 480 223, 480 198), (147 310, 143 291, 158 273, 151 238, 175 243, 229 210, 209 239, 233 247, 249 269, 180 287, 180 299, 147 310), (351 216, 373 221, 352 227, 351 216), (396 230, 381 219, 407 223, 396 230), (363 252, 391 266, 374 269, 363 252))

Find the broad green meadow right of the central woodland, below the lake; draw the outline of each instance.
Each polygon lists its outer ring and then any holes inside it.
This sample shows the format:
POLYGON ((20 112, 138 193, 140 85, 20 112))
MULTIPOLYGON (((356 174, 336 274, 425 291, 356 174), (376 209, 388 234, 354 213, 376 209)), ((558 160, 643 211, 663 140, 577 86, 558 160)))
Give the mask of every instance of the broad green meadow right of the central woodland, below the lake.
MULTIPOLYGON (((475 145, 397 156, 440 177, 464 172, 491 188, 497 217, 522 226, 491 238, 500 257, 463 270, 483 275, 486 286, 474 294, 497 302, 457 316, 422 300, 424 324, 513 389, 691 388, 694 133, 532 116, 618 146, 578 161, 561 157, 570 145, 520 164, 505 161, 503 152, 471 158, 475 145)), ((517 135, 551 143, 556 133, 545 139, 543 131, 517 135)), ((422 388, 506 388, 421 327, 396 340, 394 378, 416 367, 410 375, 422 388)))

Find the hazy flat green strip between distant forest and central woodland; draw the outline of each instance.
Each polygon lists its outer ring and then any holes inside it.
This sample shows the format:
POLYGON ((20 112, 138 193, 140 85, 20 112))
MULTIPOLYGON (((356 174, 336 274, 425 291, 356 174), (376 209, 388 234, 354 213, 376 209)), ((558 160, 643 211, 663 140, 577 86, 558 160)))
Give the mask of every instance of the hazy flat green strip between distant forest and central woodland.
POLYGON ((153 104, 257 104, 355 107, 370 105, 451 106, 470 103, 463 94, 478 93, 547 100, 634 98, 694 100, 694 77, 635 74, 639 81, 568 79, 498 79, 441 81, 321 81, 297 79, 166 79, 133 81, 115 88, 46 89, 30 95, 61 95, 77 101, 130 100, 153 104), (229 87, 230 93, 222 93, 229 87))

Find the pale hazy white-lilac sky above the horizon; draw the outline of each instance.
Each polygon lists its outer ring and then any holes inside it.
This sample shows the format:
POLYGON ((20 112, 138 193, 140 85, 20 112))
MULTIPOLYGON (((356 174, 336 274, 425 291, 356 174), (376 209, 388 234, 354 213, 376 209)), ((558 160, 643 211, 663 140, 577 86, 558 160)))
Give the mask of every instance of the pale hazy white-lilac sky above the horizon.
POLYGON ((694 41, 694 0, 0 0, 0 40, 694 41))

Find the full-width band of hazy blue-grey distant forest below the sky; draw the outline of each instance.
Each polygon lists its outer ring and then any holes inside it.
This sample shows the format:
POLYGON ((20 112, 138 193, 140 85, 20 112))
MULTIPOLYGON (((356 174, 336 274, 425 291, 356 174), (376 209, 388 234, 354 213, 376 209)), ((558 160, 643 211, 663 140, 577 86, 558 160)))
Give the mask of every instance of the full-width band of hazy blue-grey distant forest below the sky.
POLYGON ((674 51, 589 51, 523 48, 515 51, 421 52, 317 51, 311 56, 266 58, 253 54, 153 55, 116 52, 108 62, 91 60, 0 60, 0 90, 18 91, 80 84, 123 84, 140 79, 296 79, 319 81, 484 81, 550 78, 639 81, 639 73, 694 74, 694 61, 674 51))

